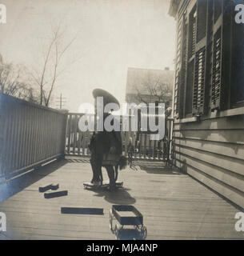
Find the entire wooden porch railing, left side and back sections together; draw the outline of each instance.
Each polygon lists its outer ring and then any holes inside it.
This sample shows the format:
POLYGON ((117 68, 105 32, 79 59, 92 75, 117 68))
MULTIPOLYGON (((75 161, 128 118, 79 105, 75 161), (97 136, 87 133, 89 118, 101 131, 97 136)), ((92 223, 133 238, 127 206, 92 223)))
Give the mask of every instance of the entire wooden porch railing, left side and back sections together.
MULTIPOLYGON (((64 154, 89 156, 92 132, 78 128, 83 114, 65 113, 0 94, 0 183, 64 154)), ((134 159, 166 159, 170 152, 172 119, 166 136, 122 131, 123 154, 134 159)))

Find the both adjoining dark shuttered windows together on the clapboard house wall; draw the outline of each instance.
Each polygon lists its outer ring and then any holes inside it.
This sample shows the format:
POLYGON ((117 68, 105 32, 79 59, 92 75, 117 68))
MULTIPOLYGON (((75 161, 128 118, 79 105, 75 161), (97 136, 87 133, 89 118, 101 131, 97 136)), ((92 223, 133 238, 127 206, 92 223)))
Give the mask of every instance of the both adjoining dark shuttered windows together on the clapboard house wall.
POLYGON ((244 25, 234 22, 240 0, 193 2, 178 26, 178 118, 244 106, 244 25))

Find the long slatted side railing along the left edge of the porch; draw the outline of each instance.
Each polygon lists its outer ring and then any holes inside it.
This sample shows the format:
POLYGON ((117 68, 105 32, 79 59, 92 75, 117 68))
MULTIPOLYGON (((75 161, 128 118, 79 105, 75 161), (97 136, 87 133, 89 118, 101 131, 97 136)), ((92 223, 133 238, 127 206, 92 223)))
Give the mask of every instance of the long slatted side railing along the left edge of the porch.
POLYGON ((0 177, 64 155, 65 130, 65 113, 0 94, 0 177))

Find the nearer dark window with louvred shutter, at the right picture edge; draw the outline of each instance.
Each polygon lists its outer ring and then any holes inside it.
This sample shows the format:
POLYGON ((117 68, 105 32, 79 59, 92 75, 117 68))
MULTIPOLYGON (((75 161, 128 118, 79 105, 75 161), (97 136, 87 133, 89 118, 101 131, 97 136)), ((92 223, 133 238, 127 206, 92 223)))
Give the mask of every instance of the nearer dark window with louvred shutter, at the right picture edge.
POLYGON ((244 106, 244 26, 234 22, 234 6, 239 2, 214 1, 212 111, 244 106))

